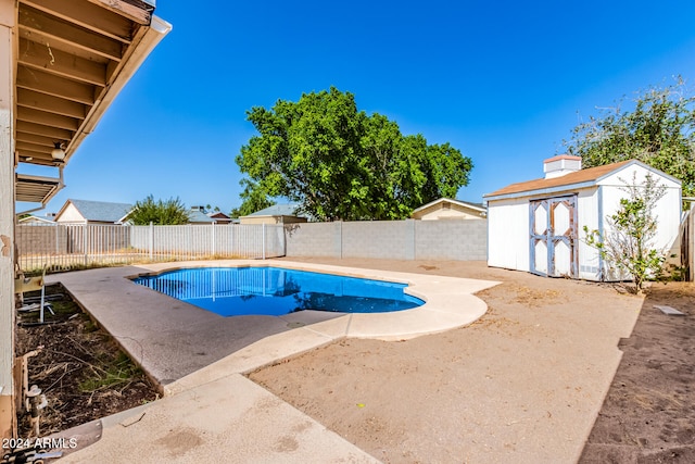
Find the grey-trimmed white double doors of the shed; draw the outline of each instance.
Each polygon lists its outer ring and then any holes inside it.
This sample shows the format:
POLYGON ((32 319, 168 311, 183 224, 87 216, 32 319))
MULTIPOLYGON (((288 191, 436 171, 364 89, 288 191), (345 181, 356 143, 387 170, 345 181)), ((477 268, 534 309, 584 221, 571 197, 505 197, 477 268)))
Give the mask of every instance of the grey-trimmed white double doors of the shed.
POLYGON ((529 214, 531 272, 577 278, 577 196, 532 200, 529 214))

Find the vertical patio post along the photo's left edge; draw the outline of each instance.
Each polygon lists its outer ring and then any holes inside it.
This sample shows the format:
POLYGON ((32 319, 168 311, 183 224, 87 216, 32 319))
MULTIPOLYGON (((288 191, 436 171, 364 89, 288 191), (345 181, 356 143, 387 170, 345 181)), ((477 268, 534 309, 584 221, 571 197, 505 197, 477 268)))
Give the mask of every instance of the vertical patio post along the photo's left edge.
POLYGON ((14 0, 0 0, 0 436, 16 426, 14 365, 14 0))

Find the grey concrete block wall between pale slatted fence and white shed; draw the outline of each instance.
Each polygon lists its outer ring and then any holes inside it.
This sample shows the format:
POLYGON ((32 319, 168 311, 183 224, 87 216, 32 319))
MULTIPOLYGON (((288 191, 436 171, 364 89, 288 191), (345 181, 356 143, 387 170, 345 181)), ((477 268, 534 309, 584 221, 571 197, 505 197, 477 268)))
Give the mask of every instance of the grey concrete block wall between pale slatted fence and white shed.
POLYGON ((486 260, 488 221, 365 221, 286 227, 287 256, 486 260))

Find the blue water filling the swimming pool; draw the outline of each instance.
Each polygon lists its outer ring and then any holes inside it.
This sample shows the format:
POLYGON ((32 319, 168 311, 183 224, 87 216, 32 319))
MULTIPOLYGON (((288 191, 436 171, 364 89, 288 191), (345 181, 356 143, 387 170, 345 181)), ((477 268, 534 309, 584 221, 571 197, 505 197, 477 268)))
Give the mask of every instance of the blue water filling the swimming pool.
POLYGON ((405 284, 280 267, 178 269, 134 281, 222 316, 302 310, 383 313, 424 304, 403 292, 405 284))

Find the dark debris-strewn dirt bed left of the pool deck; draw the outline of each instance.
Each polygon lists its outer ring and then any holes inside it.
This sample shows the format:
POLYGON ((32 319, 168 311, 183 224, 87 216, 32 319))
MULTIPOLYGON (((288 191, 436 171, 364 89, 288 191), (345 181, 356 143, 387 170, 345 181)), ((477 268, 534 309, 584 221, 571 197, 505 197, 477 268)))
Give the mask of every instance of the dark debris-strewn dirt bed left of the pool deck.
MULTIPOLYGON (((47 324, 37 325, 38 313, 21 313, 16 330, 17 355, 42 347, 28 359, 29 385, 37 385, 48 400, 41 412, 40 436, 157 398, 147 376, 62 286, 48 286, 47 294, 55 314, 46 311, 47 324)), ((27 297, 38 297, 38 292, 27 297)), ((20 416, 20 436, 30 436, 26 413, 20 416)))

